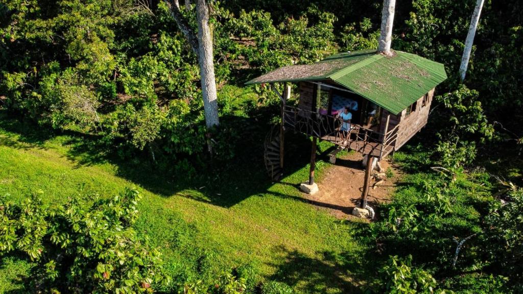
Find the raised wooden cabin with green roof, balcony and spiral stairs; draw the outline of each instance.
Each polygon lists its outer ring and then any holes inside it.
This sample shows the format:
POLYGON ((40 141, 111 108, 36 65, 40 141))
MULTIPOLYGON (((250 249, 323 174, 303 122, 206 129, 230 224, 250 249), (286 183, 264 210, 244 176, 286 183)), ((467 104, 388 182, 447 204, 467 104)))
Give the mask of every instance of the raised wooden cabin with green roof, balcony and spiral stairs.
MULTIPOLYGON (((313 137, 311 177, 314 182, 318 139, 352 149, 371 159, 383 159, 423 128, 435 87, 447 78, 444 66, 415 54, 376 50, 338 53, 307 65, 291 65, 247 84, 270 84, 281 98, 281 129, 268 135, 265 161, 270 176, 283 170, 283 133, 294 130, 313 137), (283 93, 276 83, 284 83, 283 93), (297 83, 299 100, 290 105, 290 83, 297 83), (340 112, 348 107, 350 121, 340 112)), ((280 87, 281 88, 281 87, 280 87)), ((335 158, 335 154, 334 154, 335 158)))

